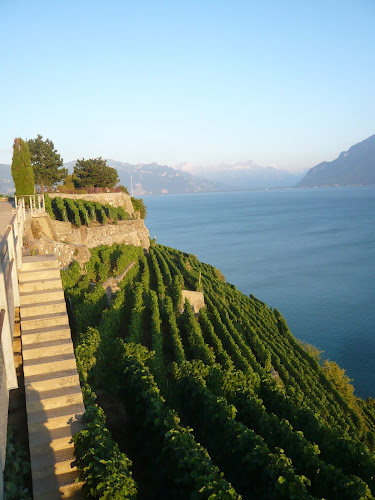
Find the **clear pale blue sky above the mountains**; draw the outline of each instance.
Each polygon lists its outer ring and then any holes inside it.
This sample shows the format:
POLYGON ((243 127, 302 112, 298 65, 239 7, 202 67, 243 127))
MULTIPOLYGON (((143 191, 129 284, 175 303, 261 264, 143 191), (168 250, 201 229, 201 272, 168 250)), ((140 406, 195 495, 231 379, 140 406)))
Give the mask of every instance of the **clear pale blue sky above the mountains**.
POLYGON ((375 133, 375 2, 0 0, 0 163, 254 160, 291 170, 375 133))

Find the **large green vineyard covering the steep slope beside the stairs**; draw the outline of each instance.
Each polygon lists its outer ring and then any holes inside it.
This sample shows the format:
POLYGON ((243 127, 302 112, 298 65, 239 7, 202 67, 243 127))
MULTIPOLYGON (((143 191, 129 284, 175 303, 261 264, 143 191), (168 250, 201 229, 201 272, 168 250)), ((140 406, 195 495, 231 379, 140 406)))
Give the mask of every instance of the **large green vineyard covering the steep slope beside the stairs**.
POLYGON ((62 279, 88 498, 373 498, 374 401, 347 397, 277 309, 157 244, 98 247, 62 279), (101 283, 132 262, 108 303, 101 283), (203 292, 198 314, 182 290, 203 292))

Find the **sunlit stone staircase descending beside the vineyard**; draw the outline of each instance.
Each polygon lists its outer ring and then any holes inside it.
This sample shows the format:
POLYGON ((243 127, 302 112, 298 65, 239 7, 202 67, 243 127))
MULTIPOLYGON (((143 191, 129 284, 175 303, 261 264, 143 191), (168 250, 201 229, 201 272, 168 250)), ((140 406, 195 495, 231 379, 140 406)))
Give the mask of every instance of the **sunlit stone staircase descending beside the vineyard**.
POLYGON ((85 408, 56 257, 23 257, 19 284, 34 500, 81 498, 71 438, 85 408))

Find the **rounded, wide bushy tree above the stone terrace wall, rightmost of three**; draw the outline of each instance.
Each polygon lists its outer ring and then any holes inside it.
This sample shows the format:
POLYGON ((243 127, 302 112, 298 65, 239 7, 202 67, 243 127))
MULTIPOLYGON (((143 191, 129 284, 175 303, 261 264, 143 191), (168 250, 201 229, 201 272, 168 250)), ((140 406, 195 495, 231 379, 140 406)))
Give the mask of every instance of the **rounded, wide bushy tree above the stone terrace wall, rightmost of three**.
POLYGON ((117 170, 101 157, 77 160, 74 173, 81 187, 114 187, 119 182, 117 170))

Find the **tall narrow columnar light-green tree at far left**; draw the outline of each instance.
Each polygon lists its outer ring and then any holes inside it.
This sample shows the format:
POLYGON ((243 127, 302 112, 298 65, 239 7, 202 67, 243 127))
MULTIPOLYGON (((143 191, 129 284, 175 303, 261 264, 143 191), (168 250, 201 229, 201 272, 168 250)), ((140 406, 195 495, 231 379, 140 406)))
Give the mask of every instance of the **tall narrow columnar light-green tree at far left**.
POLYGON ((11 170, 16 186, 16 195, 34 194, 34 172, 31 166, 30 151, 27 142, 20 137, 14 139, 11 170))

